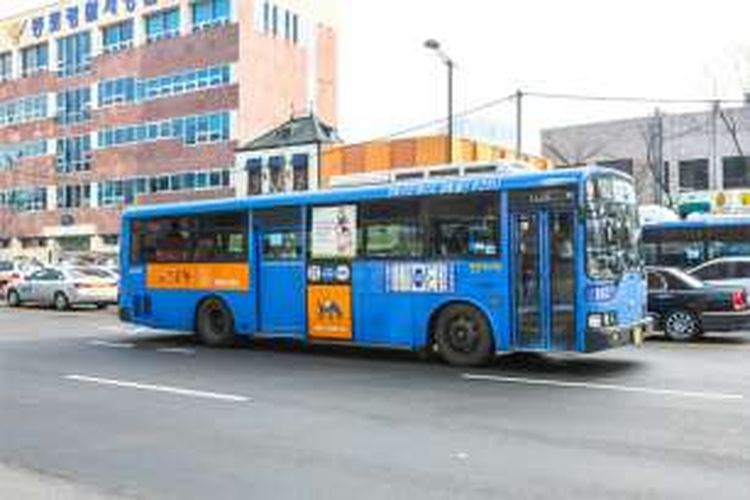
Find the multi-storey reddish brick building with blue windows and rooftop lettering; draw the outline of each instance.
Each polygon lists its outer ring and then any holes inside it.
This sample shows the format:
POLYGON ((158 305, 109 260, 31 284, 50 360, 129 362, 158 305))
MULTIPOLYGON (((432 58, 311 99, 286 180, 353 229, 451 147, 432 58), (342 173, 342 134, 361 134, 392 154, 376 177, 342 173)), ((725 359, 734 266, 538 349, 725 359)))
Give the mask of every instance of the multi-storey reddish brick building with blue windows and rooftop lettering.
POLYGON ((114 252, 122 208, 234 195, 239 144, 335 126, 332 1, 67 0, 0 21, 0 258, 114 252))

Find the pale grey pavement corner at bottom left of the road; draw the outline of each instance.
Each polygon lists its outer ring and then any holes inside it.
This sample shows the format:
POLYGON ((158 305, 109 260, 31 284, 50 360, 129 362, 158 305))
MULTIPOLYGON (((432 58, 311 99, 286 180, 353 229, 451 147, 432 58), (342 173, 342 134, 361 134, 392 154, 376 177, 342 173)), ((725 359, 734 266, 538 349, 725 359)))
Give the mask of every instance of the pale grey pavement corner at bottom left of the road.
POLYGON ((0 498, 13 500, 123 500, 65 479, 0 464, 0 498))

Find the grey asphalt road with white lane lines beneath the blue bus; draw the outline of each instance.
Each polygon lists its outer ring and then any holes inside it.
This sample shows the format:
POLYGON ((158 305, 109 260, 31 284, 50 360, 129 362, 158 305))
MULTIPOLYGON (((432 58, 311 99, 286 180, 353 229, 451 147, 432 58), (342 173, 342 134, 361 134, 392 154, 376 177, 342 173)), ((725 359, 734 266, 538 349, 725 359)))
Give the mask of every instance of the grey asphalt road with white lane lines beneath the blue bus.
POLYGON ((748 360, 750 334, 462 370, 0 308, 0 498, 747 499, 748 360))

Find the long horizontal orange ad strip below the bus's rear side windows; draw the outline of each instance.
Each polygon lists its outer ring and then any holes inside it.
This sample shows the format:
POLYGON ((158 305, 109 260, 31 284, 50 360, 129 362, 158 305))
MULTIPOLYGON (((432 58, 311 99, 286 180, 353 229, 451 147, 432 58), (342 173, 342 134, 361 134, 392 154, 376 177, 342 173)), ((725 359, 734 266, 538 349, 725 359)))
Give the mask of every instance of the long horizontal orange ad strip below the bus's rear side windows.
POLYGON ((247 263, 148 264, 146 286, 160 290, 250 290, 247 263))

